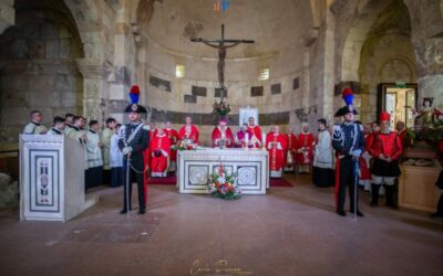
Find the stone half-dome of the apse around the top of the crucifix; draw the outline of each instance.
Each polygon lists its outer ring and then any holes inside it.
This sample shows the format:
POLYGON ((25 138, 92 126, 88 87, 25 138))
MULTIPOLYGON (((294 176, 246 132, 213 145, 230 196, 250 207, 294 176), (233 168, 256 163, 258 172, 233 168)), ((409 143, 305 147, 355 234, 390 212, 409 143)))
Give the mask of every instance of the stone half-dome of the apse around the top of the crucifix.
POLYGON ((226 12, 213 11, 213 0, 157 0, 151 6, 154 12, 152 18, 148 14, 150 23, 142 25, 142 32, 177 54, 214 57, 217 55, 214 49, 190 43, 189 39, 219 39, 224 23, 226 38, 256 41, 253 45, 229 50, 228 56, 233 59, 259 57, 300 47, 300 40, 312 28, 308 0, 231 0, 226 12))

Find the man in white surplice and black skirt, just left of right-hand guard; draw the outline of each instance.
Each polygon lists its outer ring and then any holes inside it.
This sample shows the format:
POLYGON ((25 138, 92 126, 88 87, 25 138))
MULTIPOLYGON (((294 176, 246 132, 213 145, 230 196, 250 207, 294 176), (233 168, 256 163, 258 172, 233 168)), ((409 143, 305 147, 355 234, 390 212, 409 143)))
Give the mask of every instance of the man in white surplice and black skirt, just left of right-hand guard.
POLYGON ((312 182, 318 187, 333 185, 331 135, 326 119, 318 120, 318 135, 313 153, 312 182))

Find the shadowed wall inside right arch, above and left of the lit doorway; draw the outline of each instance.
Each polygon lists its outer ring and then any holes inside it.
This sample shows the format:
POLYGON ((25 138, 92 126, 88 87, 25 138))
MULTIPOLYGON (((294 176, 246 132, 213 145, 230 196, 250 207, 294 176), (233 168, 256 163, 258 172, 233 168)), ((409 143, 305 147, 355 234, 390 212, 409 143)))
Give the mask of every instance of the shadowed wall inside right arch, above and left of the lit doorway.
POLYGON ((377 17, 362 44, 359 60, 361 118, 377 118, 380 83, 416 83, 414 47, 409 11, 402 0, 392 0, 377 17))

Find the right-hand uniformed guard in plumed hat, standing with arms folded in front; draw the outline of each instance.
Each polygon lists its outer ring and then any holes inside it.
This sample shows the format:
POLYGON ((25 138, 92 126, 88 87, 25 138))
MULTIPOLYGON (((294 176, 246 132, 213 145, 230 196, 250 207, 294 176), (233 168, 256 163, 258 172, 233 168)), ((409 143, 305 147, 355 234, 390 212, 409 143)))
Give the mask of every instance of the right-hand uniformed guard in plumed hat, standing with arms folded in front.
POLYGON ((332 135, 332 147, 336 149, 336 208, 337 213, 346 216, 344 198, 349 185, 350 211, 358 216, 363 216, 359 210, 359 194, 357 189, 358 162, 364 150, 364 137, 359 125, 354 124, 354 115, 358 114, 353 108, 353 93, 346 88, 342 93, 346 106, 341 107, 336 117, 343 116, 341 125, 334 125, 332 135), (357 202, 356 202, 357 201, 357 202))

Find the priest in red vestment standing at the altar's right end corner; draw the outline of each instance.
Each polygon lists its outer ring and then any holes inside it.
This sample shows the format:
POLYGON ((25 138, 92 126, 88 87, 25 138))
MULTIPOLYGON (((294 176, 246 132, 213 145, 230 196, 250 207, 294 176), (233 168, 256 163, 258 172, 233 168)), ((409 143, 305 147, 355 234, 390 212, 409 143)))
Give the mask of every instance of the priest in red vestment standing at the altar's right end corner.
POLYGON ((271 178, 281 178, 285 167, 286 137, 279 127, 274 126, 266 137, 266 149, 269 151, 269 171, 271 178))

